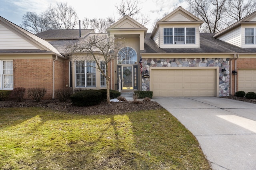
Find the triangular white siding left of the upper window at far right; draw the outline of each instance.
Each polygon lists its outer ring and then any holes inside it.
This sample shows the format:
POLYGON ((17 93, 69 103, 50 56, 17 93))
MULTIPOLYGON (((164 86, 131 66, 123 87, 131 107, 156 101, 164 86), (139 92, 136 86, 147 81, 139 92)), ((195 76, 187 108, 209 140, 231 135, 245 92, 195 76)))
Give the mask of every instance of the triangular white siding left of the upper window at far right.
POLYGON ((222 35, 221 37, 218 37, 218 39, 225 41, 227 43, 236 45, 238 47, 241 47, 241 28, 238 27, 225 35, 222 35))

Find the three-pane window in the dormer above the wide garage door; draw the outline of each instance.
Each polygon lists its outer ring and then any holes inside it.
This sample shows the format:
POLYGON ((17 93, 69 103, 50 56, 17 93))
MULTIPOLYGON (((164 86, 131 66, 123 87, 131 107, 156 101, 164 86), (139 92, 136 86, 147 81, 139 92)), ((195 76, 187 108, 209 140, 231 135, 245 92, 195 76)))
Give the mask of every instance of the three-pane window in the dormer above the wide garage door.
POLYGON ((196 28, 164 28, 164 44, 195 43, 196 28))

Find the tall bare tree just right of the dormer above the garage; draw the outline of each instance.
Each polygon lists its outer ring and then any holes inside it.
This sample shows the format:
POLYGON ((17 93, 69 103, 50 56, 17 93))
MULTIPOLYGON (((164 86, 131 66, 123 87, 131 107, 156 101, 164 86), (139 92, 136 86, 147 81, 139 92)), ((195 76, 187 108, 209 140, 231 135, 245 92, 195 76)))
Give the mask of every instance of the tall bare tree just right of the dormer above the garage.
POLYGON ((186 0, 189 12, 205 22, 201 31, 215 33, 223 29, 222 18, 226 0, 186 0))

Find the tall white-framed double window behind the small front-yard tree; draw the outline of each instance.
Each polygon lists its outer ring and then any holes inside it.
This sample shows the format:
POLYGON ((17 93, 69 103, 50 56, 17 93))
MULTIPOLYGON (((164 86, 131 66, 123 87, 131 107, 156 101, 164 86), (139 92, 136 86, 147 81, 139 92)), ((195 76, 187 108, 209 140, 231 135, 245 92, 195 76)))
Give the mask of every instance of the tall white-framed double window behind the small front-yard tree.
POLYGON ((95 66, 95 61, 76 61, 76 87, 96 87, 95 66))

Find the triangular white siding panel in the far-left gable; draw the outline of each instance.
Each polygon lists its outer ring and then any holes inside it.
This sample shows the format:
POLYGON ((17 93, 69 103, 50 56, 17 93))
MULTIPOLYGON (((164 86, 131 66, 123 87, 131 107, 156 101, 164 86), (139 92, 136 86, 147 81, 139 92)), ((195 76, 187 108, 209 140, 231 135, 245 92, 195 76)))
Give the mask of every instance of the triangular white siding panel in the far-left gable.
POLYGON ((38 49, 4 25, 0 24, 0 49, 38 49))

